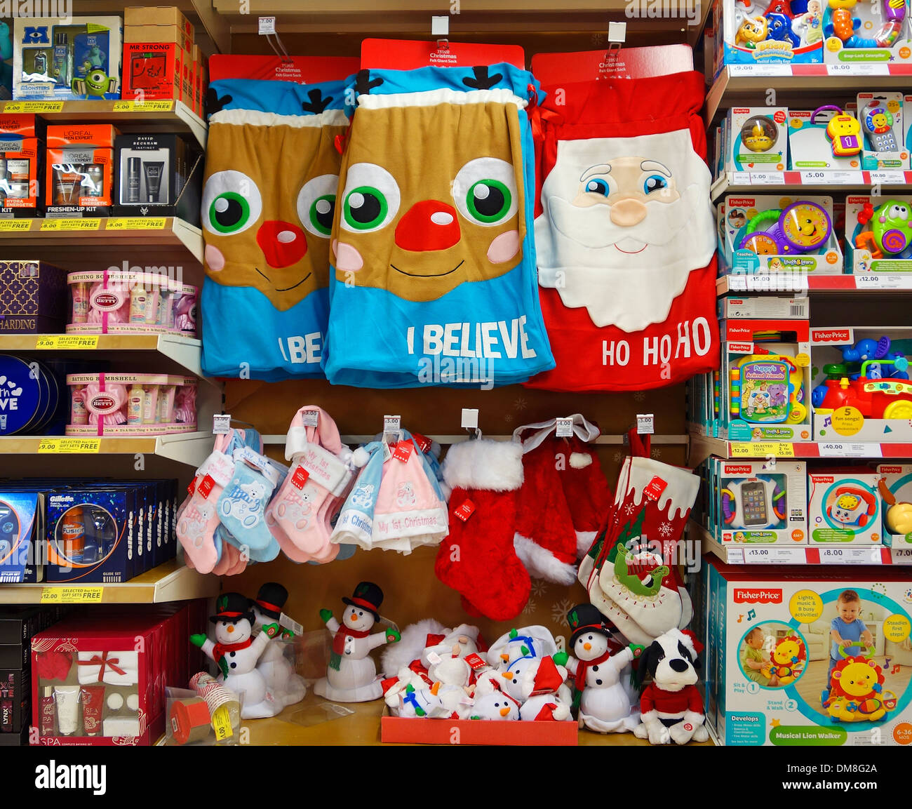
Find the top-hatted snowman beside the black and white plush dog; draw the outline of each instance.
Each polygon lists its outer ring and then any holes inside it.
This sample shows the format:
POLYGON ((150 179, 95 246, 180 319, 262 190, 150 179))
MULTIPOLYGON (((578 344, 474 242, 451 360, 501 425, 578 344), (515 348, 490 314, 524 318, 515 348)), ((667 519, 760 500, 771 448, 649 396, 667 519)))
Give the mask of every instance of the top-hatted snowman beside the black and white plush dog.
POLYGON ((600 733, 633 731, 639 724, 639 710, 630 703, 623 676, 643 647, 622 647, 613 639, 611 625, 596 607, 579 604, 567 613, 573 634, 573 654, 566 668, 575 676, 579 698, 579 725, 600 733))

